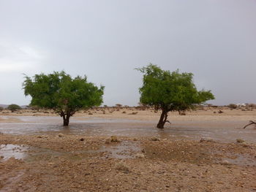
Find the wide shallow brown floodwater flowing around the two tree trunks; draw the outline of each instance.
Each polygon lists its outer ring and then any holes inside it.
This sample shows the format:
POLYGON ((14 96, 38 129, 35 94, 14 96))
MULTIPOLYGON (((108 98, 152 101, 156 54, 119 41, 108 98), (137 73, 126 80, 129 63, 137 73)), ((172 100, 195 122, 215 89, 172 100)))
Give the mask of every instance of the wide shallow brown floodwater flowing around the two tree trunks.
MULTIPOLYGON (((7 117, 1 117, 7 118, 7 117)), ((159 137, 200 139, 210 137, 221 142, 256 142, 256 128, 242 128, 247 121, 173 121, 166 128, 155 128, 156 120, 124 120, 101 118, 71 118, 68 127, 62 126, 59 117, 15 117, 22 123, 0 123, 4 134, 83 134, 86 136, 159 137)))

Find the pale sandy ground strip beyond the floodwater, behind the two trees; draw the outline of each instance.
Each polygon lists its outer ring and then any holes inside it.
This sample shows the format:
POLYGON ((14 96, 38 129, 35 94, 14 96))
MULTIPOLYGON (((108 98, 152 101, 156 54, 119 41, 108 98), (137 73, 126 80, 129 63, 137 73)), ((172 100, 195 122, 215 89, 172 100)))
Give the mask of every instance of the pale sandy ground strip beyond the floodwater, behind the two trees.
MULTIPOLYGON (((80 111, 75 113, 74 117, 95 117, 95 118, 122 118, 131 120, 159 120, 160 111, 154 110, 137 110, 135 108, 108 108, 80 111), (90 114, 90 115, 89 115, 90 114)), ((52 111, 32 111, 20 110, 18 112, 10 112, 3 110, 0 112, 0 122, 15 122, 15 116, 58 116, 52 111), (9 120, 1 118, 1 116, 12 117, 9 120)), ((186 112, 186 115, 178 115, 178 112, 169 112, 168 119, 171 120, 254 120, 256 119, 256 109, 236 109, 230 110, 229 108, 206 108, 204 110, 196 110, 186 112), (222 113, 219 113, 219 110, 222 113)))

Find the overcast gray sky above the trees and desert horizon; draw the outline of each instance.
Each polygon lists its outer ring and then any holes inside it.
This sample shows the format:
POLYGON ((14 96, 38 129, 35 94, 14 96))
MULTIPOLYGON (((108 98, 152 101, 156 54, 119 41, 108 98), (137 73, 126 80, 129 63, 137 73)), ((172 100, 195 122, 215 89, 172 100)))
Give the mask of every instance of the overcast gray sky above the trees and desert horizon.
POLYGON ((148 63, 194 73, 209 103, 256 103, 256 1, 0 0, 0 104, 29 104, 23 73, 64 69, 136 105, 148 63))

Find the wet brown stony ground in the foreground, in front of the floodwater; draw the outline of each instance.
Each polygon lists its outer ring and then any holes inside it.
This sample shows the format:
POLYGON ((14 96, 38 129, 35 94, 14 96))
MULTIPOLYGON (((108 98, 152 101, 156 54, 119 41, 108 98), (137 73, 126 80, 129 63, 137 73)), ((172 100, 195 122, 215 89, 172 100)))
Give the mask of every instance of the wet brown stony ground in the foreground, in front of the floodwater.
POLYGON ((0 191, 256 191, 256 146, 243 141, 1 134, 0 145, 0 191))

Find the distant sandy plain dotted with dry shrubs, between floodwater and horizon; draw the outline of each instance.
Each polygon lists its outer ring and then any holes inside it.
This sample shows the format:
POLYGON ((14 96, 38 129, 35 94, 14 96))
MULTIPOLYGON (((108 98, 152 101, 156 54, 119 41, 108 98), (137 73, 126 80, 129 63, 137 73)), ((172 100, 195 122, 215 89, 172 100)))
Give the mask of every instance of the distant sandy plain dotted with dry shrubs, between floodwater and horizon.
MULTIPOLYGON (((10 110, 0 111, 3 116, 57 116, 53 110, 27 109, 10 112, 10 110)), ((159 120, 159 111, 150 107, 94 107, 89 110, 80 110, 74 117, 94 117, 94 118, 126 118, 136 120, 159 120)), ((255 104, 248 104, 246 107, 218 107, 218 106, 198 106, 197 110, 188 112, 170 112, 170 120, 255 120, 255 104), (236 116, 236 118, 234 118, 236 116)), ((71 118, 72 121, 72 118, 71 118)))

